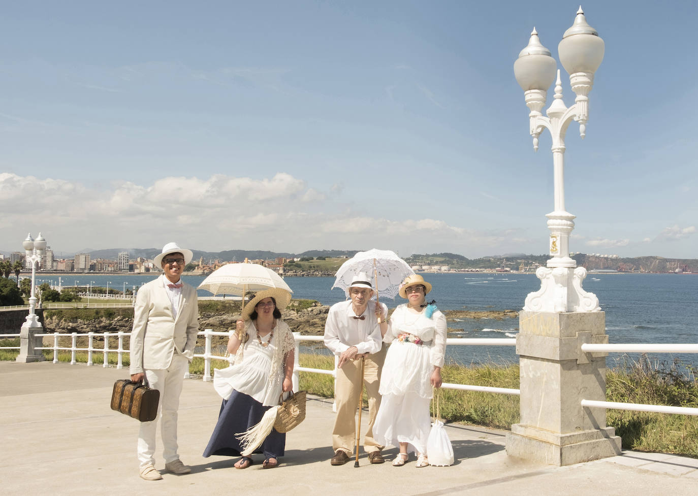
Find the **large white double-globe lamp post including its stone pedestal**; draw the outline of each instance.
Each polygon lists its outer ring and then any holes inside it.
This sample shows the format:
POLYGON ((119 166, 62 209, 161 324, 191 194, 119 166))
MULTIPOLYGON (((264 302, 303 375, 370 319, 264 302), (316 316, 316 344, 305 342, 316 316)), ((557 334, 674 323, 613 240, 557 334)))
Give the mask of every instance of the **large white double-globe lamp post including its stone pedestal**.
POLYGON ((565 133, 579 122, 584 137, 589 117, 588 94, 604 57, 604 42, 586 22, 581 7, 565 31, 558 53, 572 91, 574 105, 563 103, 562 82, 550 50, 533 29, 528 46, 514 62, 514 75, 530 109, 533 149, 544 129, 552 136, 554 209, 547 214, 550 260, 537 269, 540 290, 526 296, 519 313, 517 354, 521 379, 521 414, 507 434, 507 453, 552 465, 614 456, 621 439, 606 427, 606 410, 584 408, 581 400, 604 400, 606 354, 581 352, 583 343, 608 343, 605 314, 597 297, 581 288, 586 269, 570 257, 574 216, 565 209, 565 133), (547 109, 548 88, 556 79, 555 99, 547 109))

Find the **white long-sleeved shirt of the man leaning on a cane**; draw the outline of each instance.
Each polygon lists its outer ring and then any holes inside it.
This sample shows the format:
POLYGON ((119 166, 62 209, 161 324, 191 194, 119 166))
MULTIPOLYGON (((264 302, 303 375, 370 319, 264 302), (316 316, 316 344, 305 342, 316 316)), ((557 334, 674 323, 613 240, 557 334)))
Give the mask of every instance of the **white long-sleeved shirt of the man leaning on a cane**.
MULTIPOLYGON (((383 315, 387 315, 387 306, 383 315)), ((370 300, 362 315, 356 315, 351 300, 340 301, 329 308, 325 322, 325 346, 339 356, 348 348, 355 346, 357 353, 376 353, 380 351, 383 337, 380 324, 376 319, 376 301, 370 300), (353 317, 364 317, 364 320, 353 317)))

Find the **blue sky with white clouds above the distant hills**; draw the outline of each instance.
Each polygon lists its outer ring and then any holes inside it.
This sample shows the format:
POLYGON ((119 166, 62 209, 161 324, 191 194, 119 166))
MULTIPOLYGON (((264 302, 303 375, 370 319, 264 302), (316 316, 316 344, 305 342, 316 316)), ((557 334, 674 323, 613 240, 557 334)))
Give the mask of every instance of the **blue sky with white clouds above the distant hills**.
MULTIPOLYGON (((512 64, 534 26, 557 59, 578 6, 6 3, 0 250, 546 253, 551 140, 512 64)), ((565 140, 570 249, 697 257, 698 6, 582 7, 606 52, 565 140)))

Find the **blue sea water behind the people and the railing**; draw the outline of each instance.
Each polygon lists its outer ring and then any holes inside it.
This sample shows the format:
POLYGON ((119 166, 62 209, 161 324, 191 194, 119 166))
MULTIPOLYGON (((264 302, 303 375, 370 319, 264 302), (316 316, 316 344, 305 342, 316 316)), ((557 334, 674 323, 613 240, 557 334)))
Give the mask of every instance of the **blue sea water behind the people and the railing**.
MULTIPOLYGON (((441 310, 521 310, 526 295, 540 289, 535 274, 518 273, 424 273, 433 285, 428 299, 436 299, 441 310)), ((41 276, 39 276, 41 277, 41 276)), ((155 275, 70 274, 61 276, 63 286, 92 285, 110 289, 133 289, 155 275)), ((198 286, 205 276, 184 276, 186 283, 198 286)), ((58 285, 58 276, 44 276, 44 282, 58 285)), ((326 305, 343 301, 342 290, 330 290, 332 277, 287 277, 293 297, 314 299, 326 305)), ((603 274, 589 273, 584 290, 596 294, 606 313, 610 343, 697 343, 698 275, 690 274, 603 274)), ((200 296, 211 296, 200 290, 200 296)), ((388 308, 403 303, 381 299, 388 308)), ((511 338, 519 331, 518 319, 458 319, 448 323, 450 336, 462 338, 511 338)), ((629 354, 637 360, 637 354, 629 354)), ((609 354, 609 365, 621 354, 609 354)), ((655 361, 681 359, 698 366, 698 354, 651 354, 655 361)), ((514 347, 452 346, 447 359, 458 363, 512 363, 517 361, 514 347)))

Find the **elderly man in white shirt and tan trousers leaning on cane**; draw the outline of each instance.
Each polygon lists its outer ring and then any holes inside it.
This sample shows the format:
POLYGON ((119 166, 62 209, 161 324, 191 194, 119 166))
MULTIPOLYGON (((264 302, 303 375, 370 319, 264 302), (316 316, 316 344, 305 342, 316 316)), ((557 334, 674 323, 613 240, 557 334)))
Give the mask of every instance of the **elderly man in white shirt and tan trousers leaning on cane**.
MULTIPOLYGON (((350 299, 335 303, 329 309, 325 323, 325 346, 335 356, 337 363, 334 403, 336 419, 332 430, 332 465, 344 465, 350 460, 356 444, 356 465, 359 460, 359 436, 355 413, 360 405, 362 391, 366 386, 369 397, 369 428, 364 437, 364 451, 369 453, 371 463, 383 463, 380 454, 383 446, 373 439, 373 423, 380 406, 380 369, 385 361, 385 345, 381 335, 387 330, 387 307, 371 301, 373 287, 368 274, 354 276, 348 287, 350 299)), ((359 424, 360 425, 360 424, 359 424)))

